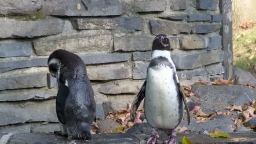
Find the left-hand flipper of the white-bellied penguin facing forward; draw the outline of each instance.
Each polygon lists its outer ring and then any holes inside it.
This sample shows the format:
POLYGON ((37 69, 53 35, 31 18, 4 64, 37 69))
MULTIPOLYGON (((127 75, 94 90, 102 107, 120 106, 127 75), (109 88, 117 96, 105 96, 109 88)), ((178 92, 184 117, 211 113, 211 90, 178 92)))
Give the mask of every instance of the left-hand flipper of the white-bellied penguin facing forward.
POLYGON ((131 105, 130 117, 132 122, 135 120, 136 112, 139 108, 139 105, 141 104, 141 101, 145 98, 146 83, 147 80, 144 81, 141 89, 139 90, 139 93, 135 96, 133 104, 131 105))

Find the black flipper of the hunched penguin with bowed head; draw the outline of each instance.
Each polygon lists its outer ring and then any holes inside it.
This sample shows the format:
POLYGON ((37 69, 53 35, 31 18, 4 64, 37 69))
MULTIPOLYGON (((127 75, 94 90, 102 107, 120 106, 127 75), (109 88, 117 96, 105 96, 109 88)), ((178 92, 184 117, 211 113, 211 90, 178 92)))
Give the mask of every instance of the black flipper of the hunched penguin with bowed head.
POLYGON ((62 124, 65 124, 64 109, 65 109, 65 103, 68 95, 69 95, 69 88, 63 82, 60 82, 59 91, 56 97, 56 113, 59 121, 62 124))

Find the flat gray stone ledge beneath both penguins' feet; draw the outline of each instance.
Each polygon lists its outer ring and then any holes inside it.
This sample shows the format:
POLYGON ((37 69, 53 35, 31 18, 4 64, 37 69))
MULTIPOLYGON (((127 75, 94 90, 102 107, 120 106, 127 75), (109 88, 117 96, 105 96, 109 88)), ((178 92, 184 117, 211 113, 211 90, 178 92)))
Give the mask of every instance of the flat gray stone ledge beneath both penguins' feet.
MULTIPOLYGON (((186 136, 194 144, 254 144, 256 142, 256 132, 229 133, 231 138, 211 138, 204 134, 178 134, 177 144, 181 144, 183 136, 186 136)), ((144 144, 148 135, 134 135, 128 133, 104 133, 92 135, 91 141, 78 141, 57 136, 54 133, 0 133, 0 141, 7 141, 6 144, 144 144)), ((159 144, 167 139, 160 136, 159 144)), ((5 144, 5 143, 3 143, 5 144)))

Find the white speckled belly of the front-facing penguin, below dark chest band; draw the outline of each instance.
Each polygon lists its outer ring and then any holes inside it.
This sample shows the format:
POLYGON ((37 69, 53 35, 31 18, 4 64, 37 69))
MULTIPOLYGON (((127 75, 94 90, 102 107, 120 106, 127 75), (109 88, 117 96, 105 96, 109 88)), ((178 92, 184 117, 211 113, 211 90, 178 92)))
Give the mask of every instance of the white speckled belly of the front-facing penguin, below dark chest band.
POLYGON ((144 112, 153 128, 173 129, 179 125, 179 101, 172 69, 148 68, 144 112))

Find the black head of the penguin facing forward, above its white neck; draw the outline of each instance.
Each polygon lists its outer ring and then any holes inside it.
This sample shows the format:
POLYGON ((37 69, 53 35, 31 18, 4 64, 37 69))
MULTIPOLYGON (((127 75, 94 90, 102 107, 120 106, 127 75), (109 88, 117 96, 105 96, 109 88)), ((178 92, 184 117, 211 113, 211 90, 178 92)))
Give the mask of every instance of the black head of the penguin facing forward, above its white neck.
POLYGON ((161 51, 171 50, 170 40, 167 35, 160 34, 154 38, 153 44, 152 44, 152 51, 154 50, 161 50, 161 51))

